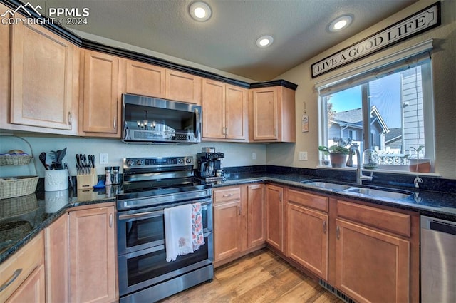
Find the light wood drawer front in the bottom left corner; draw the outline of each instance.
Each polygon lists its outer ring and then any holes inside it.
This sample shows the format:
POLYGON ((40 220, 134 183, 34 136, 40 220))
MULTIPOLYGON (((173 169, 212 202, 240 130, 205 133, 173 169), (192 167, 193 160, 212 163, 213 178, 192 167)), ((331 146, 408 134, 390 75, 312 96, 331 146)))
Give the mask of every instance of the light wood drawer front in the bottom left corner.
POLYGON ((24 280, 44 262, 43 232, 0 265, 0 287, 11 284, 0 292, 0 302, 6 299, 24 282, 24 280), (14 278, 16 277, 16 278, 14 278))

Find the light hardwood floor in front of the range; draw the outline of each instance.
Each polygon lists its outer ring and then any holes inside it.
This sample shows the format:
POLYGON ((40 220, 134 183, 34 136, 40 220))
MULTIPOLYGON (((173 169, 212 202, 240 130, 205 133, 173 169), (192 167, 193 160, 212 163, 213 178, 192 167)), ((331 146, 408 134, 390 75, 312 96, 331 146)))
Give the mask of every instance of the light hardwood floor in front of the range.
POLYGON ((215 269, 211 283, 162 300, 171 302, 333 302, 343 303, 313 279, 263 249, 215 269))

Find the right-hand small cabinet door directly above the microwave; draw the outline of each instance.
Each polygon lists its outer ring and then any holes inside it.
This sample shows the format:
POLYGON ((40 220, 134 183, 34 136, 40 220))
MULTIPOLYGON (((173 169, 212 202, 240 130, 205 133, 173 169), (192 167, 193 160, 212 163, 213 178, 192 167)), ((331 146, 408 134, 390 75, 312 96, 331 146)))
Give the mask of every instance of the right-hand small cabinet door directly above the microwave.
POLYGON ((202 78, 190 73, 166 70, 165 98, 201 105, 202 78))

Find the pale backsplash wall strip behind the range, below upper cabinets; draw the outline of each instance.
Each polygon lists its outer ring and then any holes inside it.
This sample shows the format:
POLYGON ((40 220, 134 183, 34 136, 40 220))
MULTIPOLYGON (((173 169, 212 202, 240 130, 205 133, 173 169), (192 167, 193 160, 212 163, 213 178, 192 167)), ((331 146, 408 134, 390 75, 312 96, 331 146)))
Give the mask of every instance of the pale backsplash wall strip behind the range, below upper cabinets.
MULTIPOLYGON (((1 133, 0 133, 1 135, 1 133)), ((67 162, 72 175, 76 175, 76 153, 95 155, 95 165, 98 175, 104 173, 105 166, 122 167, 122 159, 128 157, 165 157, 165 156, 184 156, 193 155, 201 152, 202 147, 215 147, 216 152, 224 153, 222 161, 224 167, 264 165, 266 164, 266 146, 262 144, 246 143, 199 143, 195 145, 137 145, 125 144, 120 139, 98 139, 98 138, 72 138, 41 135, 21 135, 30 143, 35 157, 38 175, 44 177, 43 165, 38 160, 41 152, 49 153, 51 150, 61 150, 67 148, 66 157, 63 162, 67 162), (108 165, 100 165, 100 153, 108 153, 108 165), (252 160, 252 153, 256 153, 256 160, 252 160)), ((28 151, 26 143, 15 138, 2 137, 0 141, 0 153, 6 153, 10 149, 21 149, 28 151)), ((0 176, 21 175, 19 170, 26 168, 20 167, 0 167, 0 176)), ((120 169, 122 171, 122 168, 120 169)), ((24 171, 22 175, 27 175, 24 171)))

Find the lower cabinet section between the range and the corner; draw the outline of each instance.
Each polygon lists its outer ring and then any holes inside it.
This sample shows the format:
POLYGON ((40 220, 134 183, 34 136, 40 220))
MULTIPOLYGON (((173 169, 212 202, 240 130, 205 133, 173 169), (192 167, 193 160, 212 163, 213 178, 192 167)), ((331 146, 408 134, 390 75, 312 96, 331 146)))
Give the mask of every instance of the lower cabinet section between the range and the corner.
POLYGON ((264 185, 215 188, 214 266, 264 247, 264 185))

